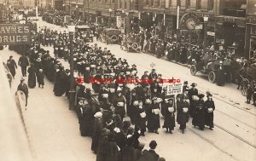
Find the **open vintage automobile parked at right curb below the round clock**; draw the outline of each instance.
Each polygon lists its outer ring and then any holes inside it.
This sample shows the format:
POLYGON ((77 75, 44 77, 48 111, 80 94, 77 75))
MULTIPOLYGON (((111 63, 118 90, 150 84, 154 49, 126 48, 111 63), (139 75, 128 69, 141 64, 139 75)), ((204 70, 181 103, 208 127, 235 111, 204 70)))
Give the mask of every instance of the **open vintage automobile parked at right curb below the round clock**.
POLYGON ((218 71, 224 70, 225 82, 230 83, 232 80, 230 64, 230 60, 210 60, 207 62, 204 60, 201 60, 200 62, 192 60, 190 73, 195 76, 197 72, 201 72, 202 74, 207 75, 209 82, 215 83, 218 71))

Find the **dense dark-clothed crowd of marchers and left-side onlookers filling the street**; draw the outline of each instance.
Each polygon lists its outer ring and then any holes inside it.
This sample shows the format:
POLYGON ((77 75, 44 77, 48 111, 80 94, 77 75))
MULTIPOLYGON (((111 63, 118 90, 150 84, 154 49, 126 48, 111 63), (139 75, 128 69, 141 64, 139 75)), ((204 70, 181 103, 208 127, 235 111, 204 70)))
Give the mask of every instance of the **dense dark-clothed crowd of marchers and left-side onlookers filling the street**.
MULTIPOLYGON (((52 32, 51 36, 53 35, 56 36, 55 41, 46 43, 38 32, 38 43, 33 43, 27 50, 26 55, 30 62, 30 66, 25 63, 29 66, 27 86, 34 88, 37 78, 38 86, 44 88, 45 75, 50 82, 55 83, 55 96, 66 95, 70 99, 70 71, 61 65, 61 51, 58 50, 55 57, 52 57, 49 51, 41 48, 44 45, 54 48, 55 42, 65 41, 60 34, 52 32)), ((64 46, 69 48, 70 43, 66 43, 64 46)), ((205 95, 199 94, 195 88, 196 83, 192 83, 189 88, 188 82, 184 82, 183 94, 166 95, 167 89, 161 81, 163 78, 156 69, 145 71, 139 76, 135 64, 129 65, 125 59, 116 58, 107 48, 102 49, 97 44, 90 46, 79 38, 74 41, 73 52, 74 69, 78 73, 76 78, 84 78, 84 83, 75 83, 75 111, 81 135, 92 138, 91 150, 96 153, 96 160, 163 160, 164 158, 154 152, 156 141, 150 142, 149 150, 143 150, 144 144, 139 138, 147 135, 147 131, 159 134, 160 128, 172 134, 176 122, 184 133, 189 116, 193 118, 192 124, 195 127, 201 130, 205 126, 213 128, 215 106, 212 95, 207 93, 207 101, 204 101, 205 95), (117 81, 119 79, 134 79, 136 82, 120 83, 117 81), (92 84, 92 89, 86 88, 88 83, 92 84), (164 117, 162 125, 161 115, 164 117)), ((26 59, 22 55, 18 64, 21 66, 21 61, 26 59)), ((69 61, 69 56, 65 60, 69 61)), ((12 64, 16 68, 15 63, 12 64)), ((21 69, 24 77, 26 66, 21 69)), ((20 80, 18 89, 24 90, 28 95, 24 78, 20 80)))

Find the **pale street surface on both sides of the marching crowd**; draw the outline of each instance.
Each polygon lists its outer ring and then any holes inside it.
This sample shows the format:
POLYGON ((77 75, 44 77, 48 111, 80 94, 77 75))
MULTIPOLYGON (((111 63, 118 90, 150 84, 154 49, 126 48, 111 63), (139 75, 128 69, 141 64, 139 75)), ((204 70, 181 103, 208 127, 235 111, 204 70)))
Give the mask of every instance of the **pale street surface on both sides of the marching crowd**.
MULTIPOLYGON (((54 26, 42 20, 38 26, 49 27, 52 30, 67 31, 67 28, 54 26)), ((192 76, 189 68, 175 63, 160 60, 152 55, 143 53, 127 53, 119 45, 101 42, 97 43, 102 48, 108 48, 116 57, 124 58, 129 64, 136 64, 139 76, 144 71, 150 71, 151 64, 163 78, 179 78, 182 81, 197 83, 197 89, 206 94, 210 91, 215 101, 213 130, 201 131, 194 128, 189 120, 185 134, 176 128, 173 134, 166 134, 165 129, 160 129, 160 134, 146 132, 140 141, 148 143, 155 140, 158 143, 156 152, 168 161, 254 161, 256 160, 256 107, 245 103, 246 98, 236 89, 236 84, 226 83, 224 87, 208 82, 205 76, 196 74, 192 76), (184 154, 182 155, 181 152, 184 154)), ((90 44, 94 44, 90 43, 90 44)), ((53 56, 53 47, 43 47, 53 56)), ((19 56, 5 48, 0 51, 3 60, 8 60, 13 55, 16 62, 19 56)), ((69 68, 67 61, 61 59, 65 68, 69 68)), ((12 84, 12 93, 20 83, 20 66, 12 84)), ((27 81, 27 80, 26 80, 27 81)), ((53 93, 53 84, 45 78, 44 89, 29 90, 28 106, 24 111, 28 135, 32 142, 32 150, 38 161, 95 161, 96 155, 90 150, 91 139, 82 137, 79 133, 78 118, 74 112, 68 110, 67 98, 56 97, 53 93)), ((91 87, 86 84, 86 87, 91 87)), ((163 118, 160 124, 163 125, 163 118)))

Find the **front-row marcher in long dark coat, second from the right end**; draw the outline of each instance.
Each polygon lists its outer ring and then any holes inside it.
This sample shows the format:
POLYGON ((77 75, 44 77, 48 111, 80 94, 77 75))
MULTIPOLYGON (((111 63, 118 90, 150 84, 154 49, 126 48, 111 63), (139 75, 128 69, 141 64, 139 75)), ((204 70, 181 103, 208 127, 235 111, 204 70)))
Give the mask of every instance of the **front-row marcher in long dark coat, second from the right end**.
POLYGON ((205 128, 205 104, 204 98, 205 95, 200 94, 198 95, 199 100, 195 102, 195 115, 192 120, 192 124, 194 127, 199 126, 199 129, 204 130, 205 128))

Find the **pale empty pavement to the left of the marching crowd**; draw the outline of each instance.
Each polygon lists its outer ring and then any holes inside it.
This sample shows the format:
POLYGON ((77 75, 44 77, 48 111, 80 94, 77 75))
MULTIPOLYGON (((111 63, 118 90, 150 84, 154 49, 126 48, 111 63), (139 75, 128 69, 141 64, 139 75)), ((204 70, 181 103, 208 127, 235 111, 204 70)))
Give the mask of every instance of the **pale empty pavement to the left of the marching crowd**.
MULTIPOLYGON (((18 62, 20 55, 4 49, 0 51, 3 61, 13 55, 18 62)), ((15 95, 20 83, 20 66, 12 84, 15 95)), ((53 83, 44 79, 44 89, 29 89, 27 110, 24 111, 26 126, 37 161, 95 161, 96 155, 90 151, 91 139, 82 137, 78 118, 68 110, 67 98, 56 97, 53 83)), ((26 77, 27 83, 27 77, 26 77)))

